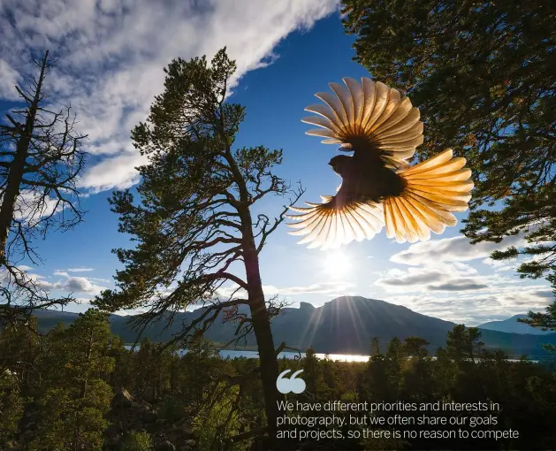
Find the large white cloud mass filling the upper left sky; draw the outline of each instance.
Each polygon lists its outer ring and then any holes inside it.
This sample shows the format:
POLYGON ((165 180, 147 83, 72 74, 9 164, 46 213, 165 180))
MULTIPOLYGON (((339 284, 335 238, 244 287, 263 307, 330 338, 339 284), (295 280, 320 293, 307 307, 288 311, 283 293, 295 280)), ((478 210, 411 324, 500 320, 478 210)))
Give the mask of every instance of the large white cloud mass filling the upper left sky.
MULTIPOLYGON (((145 158, 131 147, 130 130, 146 118, 154 96, 162 92, 163 68, 172 58, 211 57, 227 46, 240 78, 270 64, 277 57, 273 50, 278 42, 296 29, 312 27, 337 4, 4 0, 0 74, 9 77, 0 80, 11 83, 16 70, 28 70, 21 56, 29 49, 37 54, 54 50, 58 63, 48 88, 71 101, 81 131, 89 135, 88 151, 100 157, 83 173, 80 186, 92 192, 131 187, 137 182, 134 167, 145 158)), ((2 92, 0 86, 0 96, 2 92)))

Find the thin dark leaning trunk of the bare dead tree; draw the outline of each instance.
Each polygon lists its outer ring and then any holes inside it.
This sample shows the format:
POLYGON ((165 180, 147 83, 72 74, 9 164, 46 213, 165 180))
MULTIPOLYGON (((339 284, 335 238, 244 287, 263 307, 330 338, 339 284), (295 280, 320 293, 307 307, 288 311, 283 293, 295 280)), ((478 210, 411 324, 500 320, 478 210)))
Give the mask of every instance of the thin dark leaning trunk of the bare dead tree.
POLYGON ((19 186, 21 185, 21 180, 25 173, 27 152, 34 131, 34 121, 39 108, 39 102, 41 102, 42 98, 42 81, 46 75, 48 56, 49 51, 47 50, 42 59, 41 74, 36 83, 33 101, 29 105, 29 111, 27 111, 25 126, 23 131, 19 134, 15 157, 10 164, 10 172, 8 172, 8 180, 6 181, 2 205, 0 205, 0 264, 5 263, 6 246, 8 243, 8 236, 10 235, 11 220, 13 219, 15 203, 19 195, 19 186))

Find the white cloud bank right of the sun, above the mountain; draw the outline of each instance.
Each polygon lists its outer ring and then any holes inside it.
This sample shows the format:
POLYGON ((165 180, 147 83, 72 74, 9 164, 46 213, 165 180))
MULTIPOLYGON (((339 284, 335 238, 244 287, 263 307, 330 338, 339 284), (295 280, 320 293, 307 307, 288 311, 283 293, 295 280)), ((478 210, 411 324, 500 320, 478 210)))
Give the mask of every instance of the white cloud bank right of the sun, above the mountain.
POLYGON ((467 325, 544 310, 553 301, 545 281, 519 279, 514 273, 506 273, 515 271, 529 257, 509 263, 489 257, 493 250, 525 244, 521 236, 476 245, 463 236, 416 243, 390 258, 402 267, 379 271, 375 286, 387 293, 388 302, 467 325), (480 273, 471 265, 479 258, 482 260, 476 263, 491 266, 492 274, 480 273))

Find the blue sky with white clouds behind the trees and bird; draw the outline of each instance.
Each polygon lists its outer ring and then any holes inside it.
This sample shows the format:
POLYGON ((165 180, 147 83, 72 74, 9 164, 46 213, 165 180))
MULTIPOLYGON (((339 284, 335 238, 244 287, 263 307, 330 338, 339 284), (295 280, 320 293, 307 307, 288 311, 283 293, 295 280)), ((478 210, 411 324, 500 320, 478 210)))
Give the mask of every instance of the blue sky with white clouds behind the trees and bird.
MULTIPOLYGON (((80 130, 90 138, 80 179, 87 195, 85 222, 35 242, 44 264, 28 270, 51 294, 72 292, 81 300, 67 310, 86 310, 95 294, 113 287, 120 264, 110 250, 128 241, 118 233, 107 197, 138 181, 133 167, 144 160, 131 145, 130 130, 162 92, 164 65, 174 57, 211 57, 227 46, 238 62, 230 101, 247 108, 237 146, 284 149, 278 173, 301 180, 307 188, 303 200, 319 202, 319 195, 332 195, 339 185, 327 165, 336 147, 306 135, 310 126, 301 123, 310 115, 304 108, 318 102, 314 95, 329 90, 329 82, 372 76, 352 61, 354 37, 344 34, 337 3, 214 0, 199 5, 177 0, 0 4, 0 111, 10 108, 13 85, 32 69, 31 52, 49 48, 58 64, 47 88, 57 102, 71 101, 80 130)), ((270 199, 259 208, 278 213, 283 203, 270 199)), ((299 238, 280 226, 261 255, 265 293, 316 306, 360 294, 468 325, 541 310, 552 301, 544 280, 519 279, 515 262, 488 258, 506 244, 522 246, 521 237, 471 246, 460 228, 413 245, 386 239, 383 229, 372 241, 327 252, 296 244, 299 238)))

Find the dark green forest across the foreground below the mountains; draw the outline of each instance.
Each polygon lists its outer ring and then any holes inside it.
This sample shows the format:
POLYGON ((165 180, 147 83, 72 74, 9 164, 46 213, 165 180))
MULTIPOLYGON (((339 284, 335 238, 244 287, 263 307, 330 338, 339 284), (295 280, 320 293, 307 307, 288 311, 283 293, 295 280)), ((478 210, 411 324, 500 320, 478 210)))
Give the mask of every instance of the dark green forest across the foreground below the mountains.
MULTIPOLYGON (((143 341, 139 351, 130 352, 106 333, 106 327, 105 316, 89 310, 72 327, 59 325, 52 330, 42 346, 32 348, 27 355, 42 375, 40 385, 26 385, 17 372, 0 374, 2 449, 150 450, 169 446, 164 445, 166 441, 176 447, 187 444, 193 449, 216 451, 260 448, 265 425, 262 382, 245 377, 256 374, 258 360, 224 360, 201 340, 182 355, 163 350, 149 340, 143 341), (143 368, 152 374, 141 371, 143 368), (121 398, 121 381, 129 384, 124 386, 127 403, 110 403, 121 398), (21 386, 27 386, 27 397, 21 395, 21 386), (113 398, 117 390, 118 396, 113 398), (245 440, 232 440, 238 435, 245 440)), ((19 333, 5 329, 0 342, 15 349, 11 340, 25 336, 23 331, 19 333)), ((518 439, 480 443, 425 440, 419 436, 413 440, 294 440, 292 448, 552 449, 556 444, 552 427, 556 373, 526 359, 509 362, 503 352, 485 350, 474 328, 456 325, 446 339, 446 348, 435 353, 436 360, 424 352, 425 340, 408 337, 402 342, 394 337, 382 352, 378 341, 373 340, 372 348, 377 352, 368 363, 320 359, 314 349, 309 349, 301 361, 280 360, 280 371, 297 371, 301 365, 305 371, 300 377, 308 386, 316 386, 311 401, 317 402, 499 402, 499 429, 519 431, 518 439)), ((28 380, 34 377, 31 373, 28 380)), ((288 401, 308 402, 310 395, 291 394, 288 401)), ((397 413, 401 417, 415 414, 397 413)), ((343 413, 336 411, 336 415, 343 413)), ((355 415, 361 419, 369 412, 355 415)), ((379 409, 373 415, 391 416, 392 411, 379 409)), ((346 426, 341 431, 347 437, 347 431, 356 427, 346 426)), ((404 428, 419 430, 420 426, 361 427, 403 432, 404 428)), ((283 449, 289 446, 286 441, 281 443, 283 449)))

